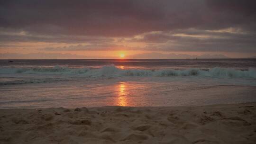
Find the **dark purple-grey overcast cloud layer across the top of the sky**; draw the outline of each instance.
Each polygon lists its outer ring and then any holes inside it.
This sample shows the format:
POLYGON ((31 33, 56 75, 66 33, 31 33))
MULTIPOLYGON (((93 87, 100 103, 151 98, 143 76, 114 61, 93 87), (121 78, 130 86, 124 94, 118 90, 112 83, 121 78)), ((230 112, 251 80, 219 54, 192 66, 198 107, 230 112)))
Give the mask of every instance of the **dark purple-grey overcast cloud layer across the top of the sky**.
POLYGON ((176 28, 255 29, 255 0, 2 0, 0 27, 131 36, 176 28))

